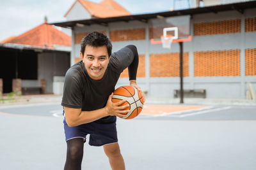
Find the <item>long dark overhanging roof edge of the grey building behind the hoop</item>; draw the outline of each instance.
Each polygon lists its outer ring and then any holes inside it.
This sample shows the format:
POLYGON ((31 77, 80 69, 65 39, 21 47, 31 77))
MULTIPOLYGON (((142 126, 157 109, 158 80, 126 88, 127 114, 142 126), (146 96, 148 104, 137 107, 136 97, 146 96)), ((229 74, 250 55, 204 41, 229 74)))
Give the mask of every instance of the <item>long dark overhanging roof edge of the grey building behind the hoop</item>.
POLYGON ((147 13, 141 15, 129 15, 122 17, 108 17, 108 18, 92 18, 88 20, 74 20, 67 22, 55 22, 53 25, 59 27, 75 27, 76 24, 92 25, 108 25, 110 22, 129 22, 131 20, 140 20, 141 22, 148 22, 149 19, 159 18, 159 17, 175 17, 180 15, 196 15, 200 13, 218 13, 221 11, 236 10, 239 13, 243 13, 244 10, 248 8, 256 8, 256 1, 248 1, 243 3, 232 3, 232 4, 222 4, 217 6, 206 6, 203 8, 189 8, 187 10, 177 10, 177 11, 164 11, 160 13, 147 13))

